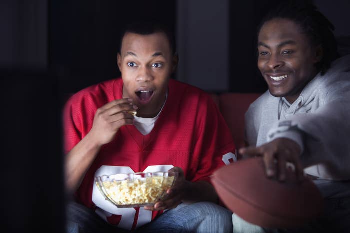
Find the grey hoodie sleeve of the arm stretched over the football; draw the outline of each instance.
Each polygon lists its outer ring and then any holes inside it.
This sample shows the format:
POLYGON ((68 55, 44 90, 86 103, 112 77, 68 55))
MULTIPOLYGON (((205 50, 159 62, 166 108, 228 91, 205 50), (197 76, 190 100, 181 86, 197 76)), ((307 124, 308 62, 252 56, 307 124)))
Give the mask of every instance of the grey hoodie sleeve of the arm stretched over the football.
POLYGON ((267 137, 287 137, 301 143, 306 173, 344 180, 350 179, 350 72, 337 76, 341 79, 328 86, 315 111, 277 121, 267 137))

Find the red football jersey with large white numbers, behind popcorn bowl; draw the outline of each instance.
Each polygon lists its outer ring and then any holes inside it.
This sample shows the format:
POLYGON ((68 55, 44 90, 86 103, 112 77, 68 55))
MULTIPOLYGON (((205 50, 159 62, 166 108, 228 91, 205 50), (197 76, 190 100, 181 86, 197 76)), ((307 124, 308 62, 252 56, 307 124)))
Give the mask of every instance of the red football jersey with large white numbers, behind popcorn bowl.
MULTIPOLYGON (((91 129, 97 108, 122 98, 121 78, 108 80, 74 94, 64 108, 64 148, 69 152, 91 129)), ((191 85, 170 79, 168 97, 147 135, 135 126, 122 126, 99 154, 76 192, 78 201, 94 208, 108 222, 134 229, 161 212, 117 208, 105 200, 94 183, 97 175, 167 171, 181 167, 190 181, 206 180, 225 165, 222 156, 234 153, 230 131, 211 97, 191 85)))

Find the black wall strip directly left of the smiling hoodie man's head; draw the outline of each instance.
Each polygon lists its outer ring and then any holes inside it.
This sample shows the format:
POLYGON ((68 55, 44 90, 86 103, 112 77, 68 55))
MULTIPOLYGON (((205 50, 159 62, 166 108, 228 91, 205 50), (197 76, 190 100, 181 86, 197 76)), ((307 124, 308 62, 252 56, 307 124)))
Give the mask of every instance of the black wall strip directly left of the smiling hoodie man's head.
POLYGON ((257 27, 280 0, 230 1, 230 91, 264 92, 267 85, 257 68, 257 27))

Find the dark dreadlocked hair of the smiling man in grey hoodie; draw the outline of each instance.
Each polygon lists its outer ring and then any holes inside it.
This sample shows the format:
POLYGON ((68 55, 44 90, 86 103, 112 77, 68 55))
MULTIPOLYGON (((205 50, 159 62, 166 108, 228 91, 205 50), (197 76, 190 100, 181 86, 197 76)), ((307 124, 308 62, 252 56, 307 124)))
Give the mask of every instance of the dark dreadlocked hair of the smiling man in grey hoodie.
POLYGON ((333 33, 334 25, 319 12, 312 0, 283 0, 263 17, 257 33, 259 34, 265 22, 275 18, 294 21, 310 38, 311 43, 322 46, 323 57, 315 65, 323 75, 331 62, 338 57, 337 43, 333 33))

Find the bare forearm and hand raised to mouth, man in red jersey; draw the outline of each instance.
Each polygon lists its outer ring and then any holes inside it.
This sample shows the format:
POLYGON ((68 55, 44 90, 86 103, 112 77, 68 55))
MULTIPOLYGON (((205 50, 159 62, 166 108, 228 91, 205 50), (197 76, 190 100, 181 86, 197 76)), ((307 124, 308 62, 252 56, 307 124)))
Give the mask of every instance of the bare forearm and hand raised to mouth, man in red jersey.
POLYGON ((65 181, 69 192, 79 187, 101 146, 109 143, 121 126, 133 124, 133 116, 127 111, 136 108, 131 100, 119 99, 97 109, 91 130, 66 155, 65 181))

